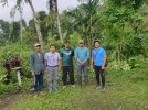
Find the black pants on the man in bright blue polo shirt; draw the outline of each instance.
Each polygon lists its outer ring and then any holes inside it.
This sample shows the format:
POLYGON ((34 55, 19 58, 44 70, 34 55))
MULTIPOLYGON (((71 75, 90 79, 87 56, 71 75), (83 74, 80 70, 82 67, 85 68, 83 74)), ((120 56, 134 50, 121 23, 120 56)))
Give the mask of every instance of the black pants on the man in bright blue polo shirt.
POLYGON ((102 76, 102 85, 105 86, 105 74, 104 74, 104 69, 102 69, 102 66, 94 66, 95 69, 95 74, 96 74, 96 81, 97 85, 99 85, 99 73, 102 76))

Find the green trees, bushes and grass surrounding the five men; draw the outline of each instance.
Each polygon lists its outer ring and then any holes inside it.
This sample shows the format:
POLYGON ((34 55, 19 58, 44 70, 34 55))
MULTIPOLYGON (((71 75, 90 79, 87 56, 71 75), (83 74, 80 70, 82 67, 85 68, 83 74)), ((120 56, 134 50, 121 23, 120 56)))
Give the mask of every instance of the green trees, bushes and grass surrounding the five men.
MULTIPOLYGON (((8 110, 25 109, 25 107, 46 109, 47 103, 52 109, 68 110, 77 108, 96 110, 97 107, 110 110, 115 108, 119 110, 148 109, 147 0, 78 0, 82 4, 76 9, 65 10, 60 14, 56 0, 49 0, 49 13, 36 12, 28 24, 23 18, 20 21, 13 21, 13 16, 15 11, 19 11, 21 15, 22 3, 31 6, 30 0, 15 1, 18 2, 11 12, 12 22, 0 20, 0 97, 31 89, 29 55, 33 52, 34 43, 41 43, 42 40, 42 50, 45 48, 45 52, 50 51, 50 44, 55 44, 59 52, 63 46, 63 41, 66 40, 75 48, 80 38, 85 41, 85 46, 92 52, 94 41, 99 40, 101 46, 107 52, 109 66, 106 68, 107 89, 105 92, 94 90, 93 82, 89 84, 88 89, 60 89, 57 94, 39 98, 33 105, 30 105, 32 96, 25 96, 10 105, 8 110), (36 24, 41 28, 41 33, 36 30, 36 24), (4 84, 6 69, 2 63, 6 58, 12 59, 15 54, 24 61, 21 64, 25 74, 22 76, 21 87, 18 86, 15 72, 11 72, 11 82, 4 84), (36 106, 39 102, 41 103, 36 106)), ((1 0, 0 3, 6 4, 7 0, 1 0)), ((89 70, 89 80, 94 80, 94 72, 89 70)), ((59 86, 62 86, 61 81, 60 79, 59 86)), ((47 87, 46 81, 44 86, 47 87)))

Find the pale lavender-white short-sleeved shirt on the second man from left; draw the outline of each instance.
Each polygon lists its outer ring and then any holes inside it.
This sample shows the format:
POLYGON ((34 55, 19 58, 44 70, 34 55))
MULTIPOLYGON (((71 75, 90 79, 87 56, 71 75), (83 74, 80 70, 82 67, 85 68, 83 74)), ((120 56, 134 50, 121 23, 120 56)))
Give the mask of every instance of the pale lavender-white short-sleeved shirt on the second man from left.
POLYGON ((57 66, 60 58, 60 54, 56 52, 54 54, 52 54, 51 52, 45 54, 45 61, 47 61, 47 66, 57 66))

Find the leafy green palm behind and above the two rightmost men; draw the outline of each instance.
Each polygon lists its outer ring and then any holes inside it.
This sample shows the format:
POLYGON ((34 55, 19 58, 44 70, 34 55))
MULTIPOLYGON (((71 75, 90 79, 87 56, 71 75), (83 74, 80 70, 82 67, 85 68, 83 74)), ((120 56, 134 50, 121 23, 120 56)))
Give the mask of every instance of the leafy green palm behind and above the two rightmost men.
POLYGON ((99 25, 99 22, 97 22, 98 2, 99 0, 87 0, 87 3, 83 3, 77 9, 68 12, 68 15, 74 18, 73 26, 76 31, 82 33, 83 38, 88 45, 89 52, 92 52, 92 46, 96 38, 96 32, 98 31, 99 25))

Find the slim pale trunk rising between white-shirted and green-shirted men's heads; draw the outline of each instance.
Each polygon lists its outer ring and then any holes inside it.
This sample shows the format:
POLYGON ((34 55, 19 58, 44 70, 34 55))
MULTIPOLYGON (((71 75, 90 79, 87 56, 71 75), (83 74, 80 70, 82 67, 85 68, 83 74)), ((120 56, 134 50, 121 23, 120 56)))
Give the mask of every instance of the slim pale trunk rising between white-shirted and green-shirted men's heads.
POLYGON ((55 12, 56 12, 56 20, 57 20, 57 28, 59 28, 59 35, 60 35, 60 40, 63 43, 63 36, 62 36, 62 32, 61 32, 61 24, 60 24, 60 18, 59 18, 59 9, 57 9, 57 0, 54 0, 55 3, 55 12))

